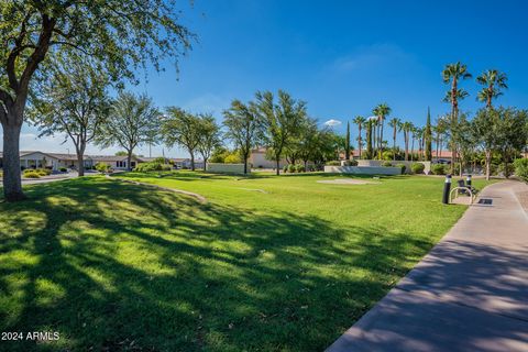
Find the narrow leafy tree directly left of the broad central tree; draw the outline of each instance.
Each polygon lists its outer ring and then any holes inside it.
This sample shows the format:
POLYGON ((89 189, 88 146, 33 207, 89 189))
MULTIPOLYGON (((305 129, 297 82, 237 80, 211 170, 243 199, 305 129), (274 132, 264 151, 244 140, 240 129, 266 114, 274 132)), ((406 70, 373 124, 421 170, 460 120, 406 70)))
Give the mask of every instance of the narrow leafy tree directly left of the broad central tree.
POLYGON ((248 158, 251 148, 258 143, 258 116, 254 103, 244 105, 233 100, 231 107, 223 111, 226 136, 233 141, 240 151, 244 163, 244 174, 248 174, 248 158))

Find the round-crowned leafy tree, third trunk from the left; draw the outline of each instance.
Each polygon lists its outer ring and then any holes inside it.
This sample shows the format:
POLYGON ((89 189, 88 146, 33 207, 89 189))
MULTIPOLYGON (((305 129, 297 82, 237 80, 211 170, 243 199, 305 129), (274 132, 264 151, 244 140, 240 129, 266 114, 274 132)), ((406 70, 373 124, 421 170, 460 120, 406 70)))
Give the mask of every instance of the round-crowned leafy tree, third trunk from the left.
POLYGON ((100 125, 101 133, 96 136, 96 143, 102 147, 117 145, 124 148, 127 168, 131 170, 134 148, 148 142, 152 131, 160 125, 160 118, 151 98, 121 92, 100 125))

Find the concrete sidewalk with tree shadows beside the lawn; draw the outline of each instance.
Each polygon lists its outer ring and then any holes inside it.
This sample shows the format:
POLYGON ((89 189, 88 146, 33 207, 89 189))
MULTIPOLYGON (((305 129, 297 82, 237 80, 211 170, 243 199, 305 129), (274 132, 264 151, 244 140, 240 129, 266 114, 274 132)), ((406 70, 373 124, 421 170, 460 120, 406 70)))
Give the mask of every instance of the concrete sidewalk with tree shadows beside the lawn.
POLYGON ((327 351, 528 351, 528 216, 486 187, 432 251, 327 351))

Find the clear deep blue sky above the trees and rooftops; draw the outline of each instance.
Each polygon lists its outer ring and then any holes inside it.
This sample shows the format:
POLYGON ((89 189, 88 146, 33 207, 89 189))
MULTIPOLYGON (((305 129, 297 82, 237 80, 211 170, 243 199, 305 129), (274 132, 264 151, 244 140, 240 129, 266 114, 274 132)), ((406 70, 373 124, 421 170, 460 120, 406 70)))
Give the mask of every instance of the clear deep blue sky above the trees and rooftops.
MULTIPOLYGON (((234 98, 256 90, 285 89, 308 102, 321 122, 371 116, 387 102, 392 116, 425 124, 449 106, 440 73, 461 61, 476 76, 487 68, 508 75, 509 89, 497 103, 527 108, 528 3, 526 1, 293 1, 195 0, 182 21, 198 35, 194 50, 148 82, 130 89, 148 94, 160 107, 194 112, 221 111, 234 98)), ((144 73, 140 73, 143 77, 144 73)), ((476 111, 479 86, 462 84, 470 97, 461 108, 476 111)), ((352 129, 355 136, 355 129, 352 129)), ((21 148, 73 152, 62 138, 35 140, 24 128, 21 148)), ((105 153, 118 148, 106 150, 105 153)), ((155 147, 160 154, 162 147, 155 147)), ((90 146, 89 153, 101 153, 90 146)), ((147 154, 147 148, 139 153, 147 154)), ((185 155, 172 148, 165 153, 185 155)))

